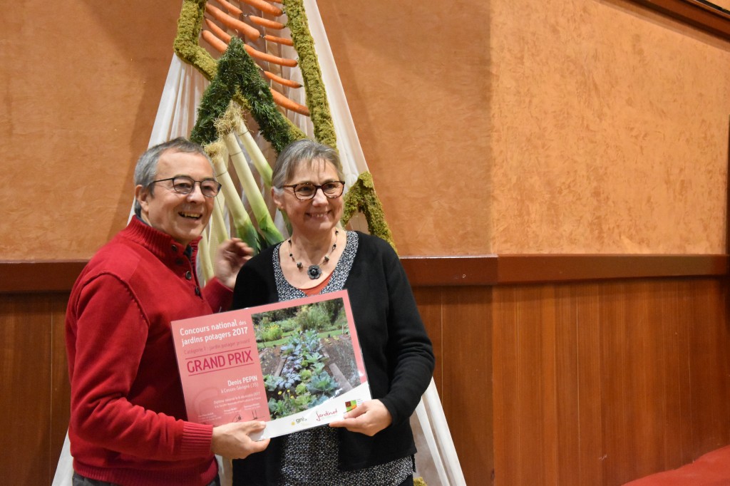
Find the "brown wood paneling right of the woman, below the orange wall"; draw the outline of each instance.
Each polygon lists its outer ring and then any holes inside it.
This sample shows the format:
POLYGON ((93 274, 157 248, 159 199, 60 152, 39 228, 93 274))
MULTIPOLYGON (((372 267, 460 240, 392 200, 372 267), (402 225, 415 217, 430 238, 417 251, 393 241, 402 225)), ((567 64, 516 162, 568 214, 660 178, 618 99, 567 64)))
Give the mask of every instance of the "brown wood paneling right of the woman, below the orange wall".
POLYGON ((622 485, 729 444, 725 285, 416 288, 467 484, 622 485))

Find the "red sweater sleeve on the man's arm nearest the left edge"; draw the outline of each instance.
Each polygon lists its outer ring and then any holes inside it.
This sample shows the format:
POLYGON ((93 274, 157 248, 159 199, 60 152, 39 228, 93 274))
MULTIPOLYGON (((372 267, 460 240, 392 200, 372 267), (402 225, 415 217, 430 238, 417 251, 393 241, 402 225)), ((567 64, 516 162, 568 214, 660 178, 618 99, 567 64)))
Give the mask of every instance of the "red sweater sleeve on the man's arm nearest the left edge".
POLYGON ((74 303, 71 424, 85 441, 152 460, 210 455, 212 426, 176 420, 126 396, 147 341, 148 323, 120 279, 91 279, 74 303))

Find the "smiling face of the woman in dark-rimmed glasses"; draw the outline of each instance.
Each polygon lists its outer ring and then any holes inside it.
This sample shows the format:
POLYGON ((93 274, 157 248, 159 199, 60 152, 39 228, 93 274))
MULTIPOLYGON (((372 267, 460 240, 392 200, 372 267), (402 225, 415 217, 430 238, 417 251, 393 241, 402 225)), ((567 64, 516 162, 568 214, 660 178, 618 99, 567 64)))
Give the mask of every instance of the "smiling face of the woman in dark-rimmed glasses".
MULTIPOLYGON (((303 184, 304 182, 323 185, 336 180, 339 180, 339 177, 334 166, 318 159, 312 161, 311 164, 307 161, 299 161, 293 177, 285 185, 303 184)), ((328 234, 342 217, 342 196, 328 198, 321 189, 318 189, 315 196, 307 201, 300 201, 296 198, 292 188, 284 188, 281 196, 277 196, 272 191, 272 196, 277 207, 288 215, 293 234, 314 238, 328 234)))

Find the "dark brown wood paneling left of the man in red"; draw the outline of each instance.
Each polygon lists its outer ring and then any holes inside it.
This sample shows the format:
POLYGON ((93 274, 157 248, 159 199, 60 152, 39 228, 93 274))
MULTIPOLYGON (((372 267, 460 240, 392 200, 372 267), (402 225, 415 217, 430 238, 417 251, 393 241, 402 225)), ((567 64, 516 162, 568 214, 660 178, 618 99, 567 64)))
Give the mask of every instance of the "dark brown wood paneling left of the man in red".
POLYGON ((69 420, 64 350, 67 293, 0 295, 0 474, 48 485, 69 420))

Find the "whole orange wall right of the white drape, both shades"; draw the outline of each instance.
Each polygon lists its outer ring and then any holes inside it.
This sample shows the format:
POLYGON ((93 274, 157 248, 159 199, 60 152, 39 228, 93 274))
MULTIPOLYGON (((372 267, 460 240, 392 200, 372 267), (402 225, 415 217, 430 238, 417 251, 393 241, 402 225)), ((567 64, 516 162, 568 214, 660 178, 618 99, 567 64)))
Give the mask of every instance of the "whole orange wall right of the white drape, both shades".
POLYGON ((631 1, 318 3, 401 254, 724 252, 729 42, 631 1))

